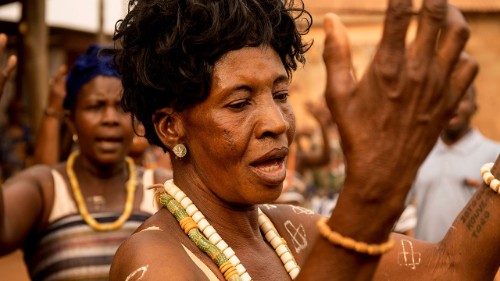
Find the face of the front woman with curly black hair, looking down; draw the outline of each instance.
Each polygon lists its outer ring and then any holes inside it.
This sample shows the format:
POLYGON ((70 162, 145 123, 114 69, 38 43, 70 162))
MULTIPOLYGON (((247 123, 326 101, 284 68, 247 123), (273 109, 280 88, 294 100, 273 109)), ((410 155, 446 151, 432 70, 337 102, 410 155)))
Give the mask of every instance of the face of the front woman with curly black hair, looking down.
POLYGON ((214 66, 207 100, 183 113, 189 159, 220 199, 275 200, 295 130, 289 78, 270 47, 225 54, 214 66))

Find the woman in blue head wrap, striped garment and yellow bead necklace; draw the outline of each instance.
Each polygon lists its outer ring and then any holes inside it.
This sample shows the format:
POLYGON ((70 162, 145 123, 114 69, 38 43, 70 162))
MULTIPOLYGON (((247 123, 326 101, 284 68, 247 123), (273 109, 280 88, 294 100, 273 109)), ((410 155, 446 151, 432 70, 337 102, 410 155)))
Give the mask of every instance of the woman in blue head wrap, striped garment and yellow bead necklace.
POLYGON ((99 50, 80 56, 66 83, 79 151, 65 163, 21 172, 0 192, 0 254, 22 248, 33 280, 108 280, 120 243, 156 211, 146 188, 169 178, 126 157, 132 119, 120 107, 111 57, 99 50))

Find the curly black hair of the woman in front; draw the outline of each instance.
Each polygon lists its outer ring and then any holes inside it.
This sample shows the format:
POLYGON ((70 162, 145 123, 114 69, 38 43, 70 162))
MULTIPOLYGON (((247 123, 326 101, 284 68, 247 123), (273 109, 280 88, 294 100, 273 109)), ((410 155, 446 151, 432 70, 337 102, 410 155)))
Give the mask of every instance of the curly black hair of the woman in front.
POLYGON ((217 60, 246 46, 271 46, 291 76, 305 62, 311 43, 302 35, 311 24, 302 0, 130 0, 113 37, 122 106, 144 125, 150 143, 166 149, 154 112, 202 102, 217 60))

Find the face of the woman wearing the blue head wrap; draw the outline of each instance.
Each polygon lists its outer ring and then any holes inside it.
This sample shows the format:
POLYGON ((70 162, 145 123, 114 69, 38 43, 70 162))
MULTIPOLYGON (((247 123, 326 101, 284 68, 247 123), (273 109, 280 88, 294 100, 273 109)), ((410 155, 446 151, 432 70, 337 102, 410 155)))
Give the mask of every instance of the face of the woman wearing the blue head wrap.
POLYGON ((97 76, 78 93, 72 122, 83 155, 100 164, 122 161, 132 142, 131 116, 120 106, 116 77, 97 76))

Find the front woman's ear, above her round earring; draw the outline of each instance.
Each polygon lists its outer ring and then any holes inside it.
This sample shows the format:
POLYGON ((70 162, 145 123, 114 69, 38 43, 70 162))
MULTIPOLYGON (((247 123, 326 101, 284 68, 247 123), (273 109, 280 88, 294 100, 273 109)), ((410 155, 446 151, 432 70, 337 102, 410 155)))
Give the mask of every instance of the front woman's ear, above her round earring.
POLYGON ((157 110, 153 115, 153 123, 158 138, 169 150, 172 150, 175 145, 183 143, 185 130, 182 118, 172 108, 157 110))

